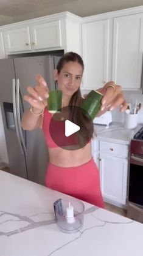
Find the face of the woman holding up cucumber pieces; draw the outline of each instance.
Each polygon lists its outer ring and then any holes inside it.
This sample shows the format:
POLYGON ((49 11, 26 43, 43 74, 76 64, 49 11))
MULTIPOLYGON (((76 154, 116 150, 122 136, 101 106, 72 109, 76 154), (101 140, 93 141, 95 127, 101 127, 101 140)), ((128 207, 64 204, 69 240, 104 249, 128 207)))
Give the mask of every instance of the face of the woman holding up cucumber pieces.
POLYGON ((83 68, 78 62, 66 62, 61 69, 54 70, 54 77, 57 80, 58 89, 63 92, 63 95, 71 97, 80 87, 82 81, 83 68))

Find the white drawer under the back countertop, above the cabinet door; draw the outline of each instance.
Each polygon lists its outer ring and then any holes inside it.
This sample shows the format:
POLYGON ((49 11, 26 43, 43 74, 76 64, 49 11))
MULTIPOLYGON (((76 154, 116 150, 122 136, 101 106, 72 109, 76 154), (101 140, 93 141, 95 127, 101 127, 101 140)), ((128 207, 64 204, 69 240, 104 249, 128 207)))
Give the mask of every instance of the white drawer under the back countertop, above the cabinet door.
POLYGON ((110 156, 128 157, 128 145, 100 141, 99 149, 100 152, 108 153, 110 156))

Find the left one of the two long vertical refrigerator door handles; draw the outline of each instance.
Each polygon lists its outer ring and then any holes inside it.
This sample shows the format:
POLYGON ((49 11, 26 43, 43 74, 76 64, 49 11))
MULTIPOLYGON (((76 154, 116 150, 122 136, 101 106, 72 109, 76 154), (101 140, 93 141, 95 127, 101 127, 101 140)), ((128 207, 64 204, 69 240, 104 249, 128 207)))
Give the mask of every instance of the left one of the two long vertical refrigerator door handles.
POLYGON ((23 151, 23 146, 21 145, 21 140, 20 140, 20 135, 19 135, 19 130, 18 130, 18 120, 17 120, 17 116, 16 116, 16 97, 15 97, 15 89, 16 89, 16 85, 15 85, 15 79, 12 80, 12 99, 13 99, 13 115, 14 115, 14 120, 15 120, 15 129, 16 129, 16 135, 18 138, 18 143, 19 143, 19 148, 21 150, 21 153, 24 154, 23 151))

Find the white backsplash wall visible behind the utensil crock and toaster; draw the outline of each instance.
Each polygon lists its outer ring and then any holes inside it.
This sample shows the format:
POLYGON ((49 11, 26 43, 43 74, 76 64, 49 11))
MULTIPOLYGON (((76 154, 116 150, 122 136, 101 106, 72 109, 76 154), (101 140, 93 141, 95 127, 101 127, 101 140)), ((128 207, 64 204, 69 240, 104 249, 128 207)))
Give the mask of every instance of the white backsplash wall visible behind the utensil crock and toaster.
MULTIPOLYGON (((82 90, 82 95, 87 94, 88 91, 82 90)), ((135 103, 136 100, 139 104, 141 102, 142 107, 141 110, 138 113, 138 123, 143 123, 143 94, 142 91, 124 91, 125 99, 127 102, 130 102, 131 100, 135 103)), ((124 122, 124 115, 125 113, 120 112, 119 108, 116 110, 113 110, 112 112, 112 118, 113 122, 124 122)))

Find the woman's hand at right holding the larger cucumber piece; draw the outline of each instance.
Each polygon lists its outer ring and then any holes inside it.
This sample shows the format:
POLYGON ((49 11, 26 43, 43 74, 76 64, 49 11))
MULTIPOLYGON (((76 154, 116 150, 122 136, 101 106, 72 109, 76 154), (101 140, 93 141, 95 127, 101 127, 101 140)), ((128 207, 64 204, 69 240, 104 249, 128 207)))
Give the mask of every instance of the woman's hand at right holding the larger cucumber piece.
MULTIPOLYGON (((103 94, 101 112, 104 113, 107 110, 114 110, 120 106, 120 111, 125 111, 127 109, 127 101, 124 98, 122 92, 122 87, 120 85, 115 85, 113 81, 106 83, 102 88, 97 89, 97 91, 103 94)), ((102 113, 99 115, 102 115, 102 113)))

